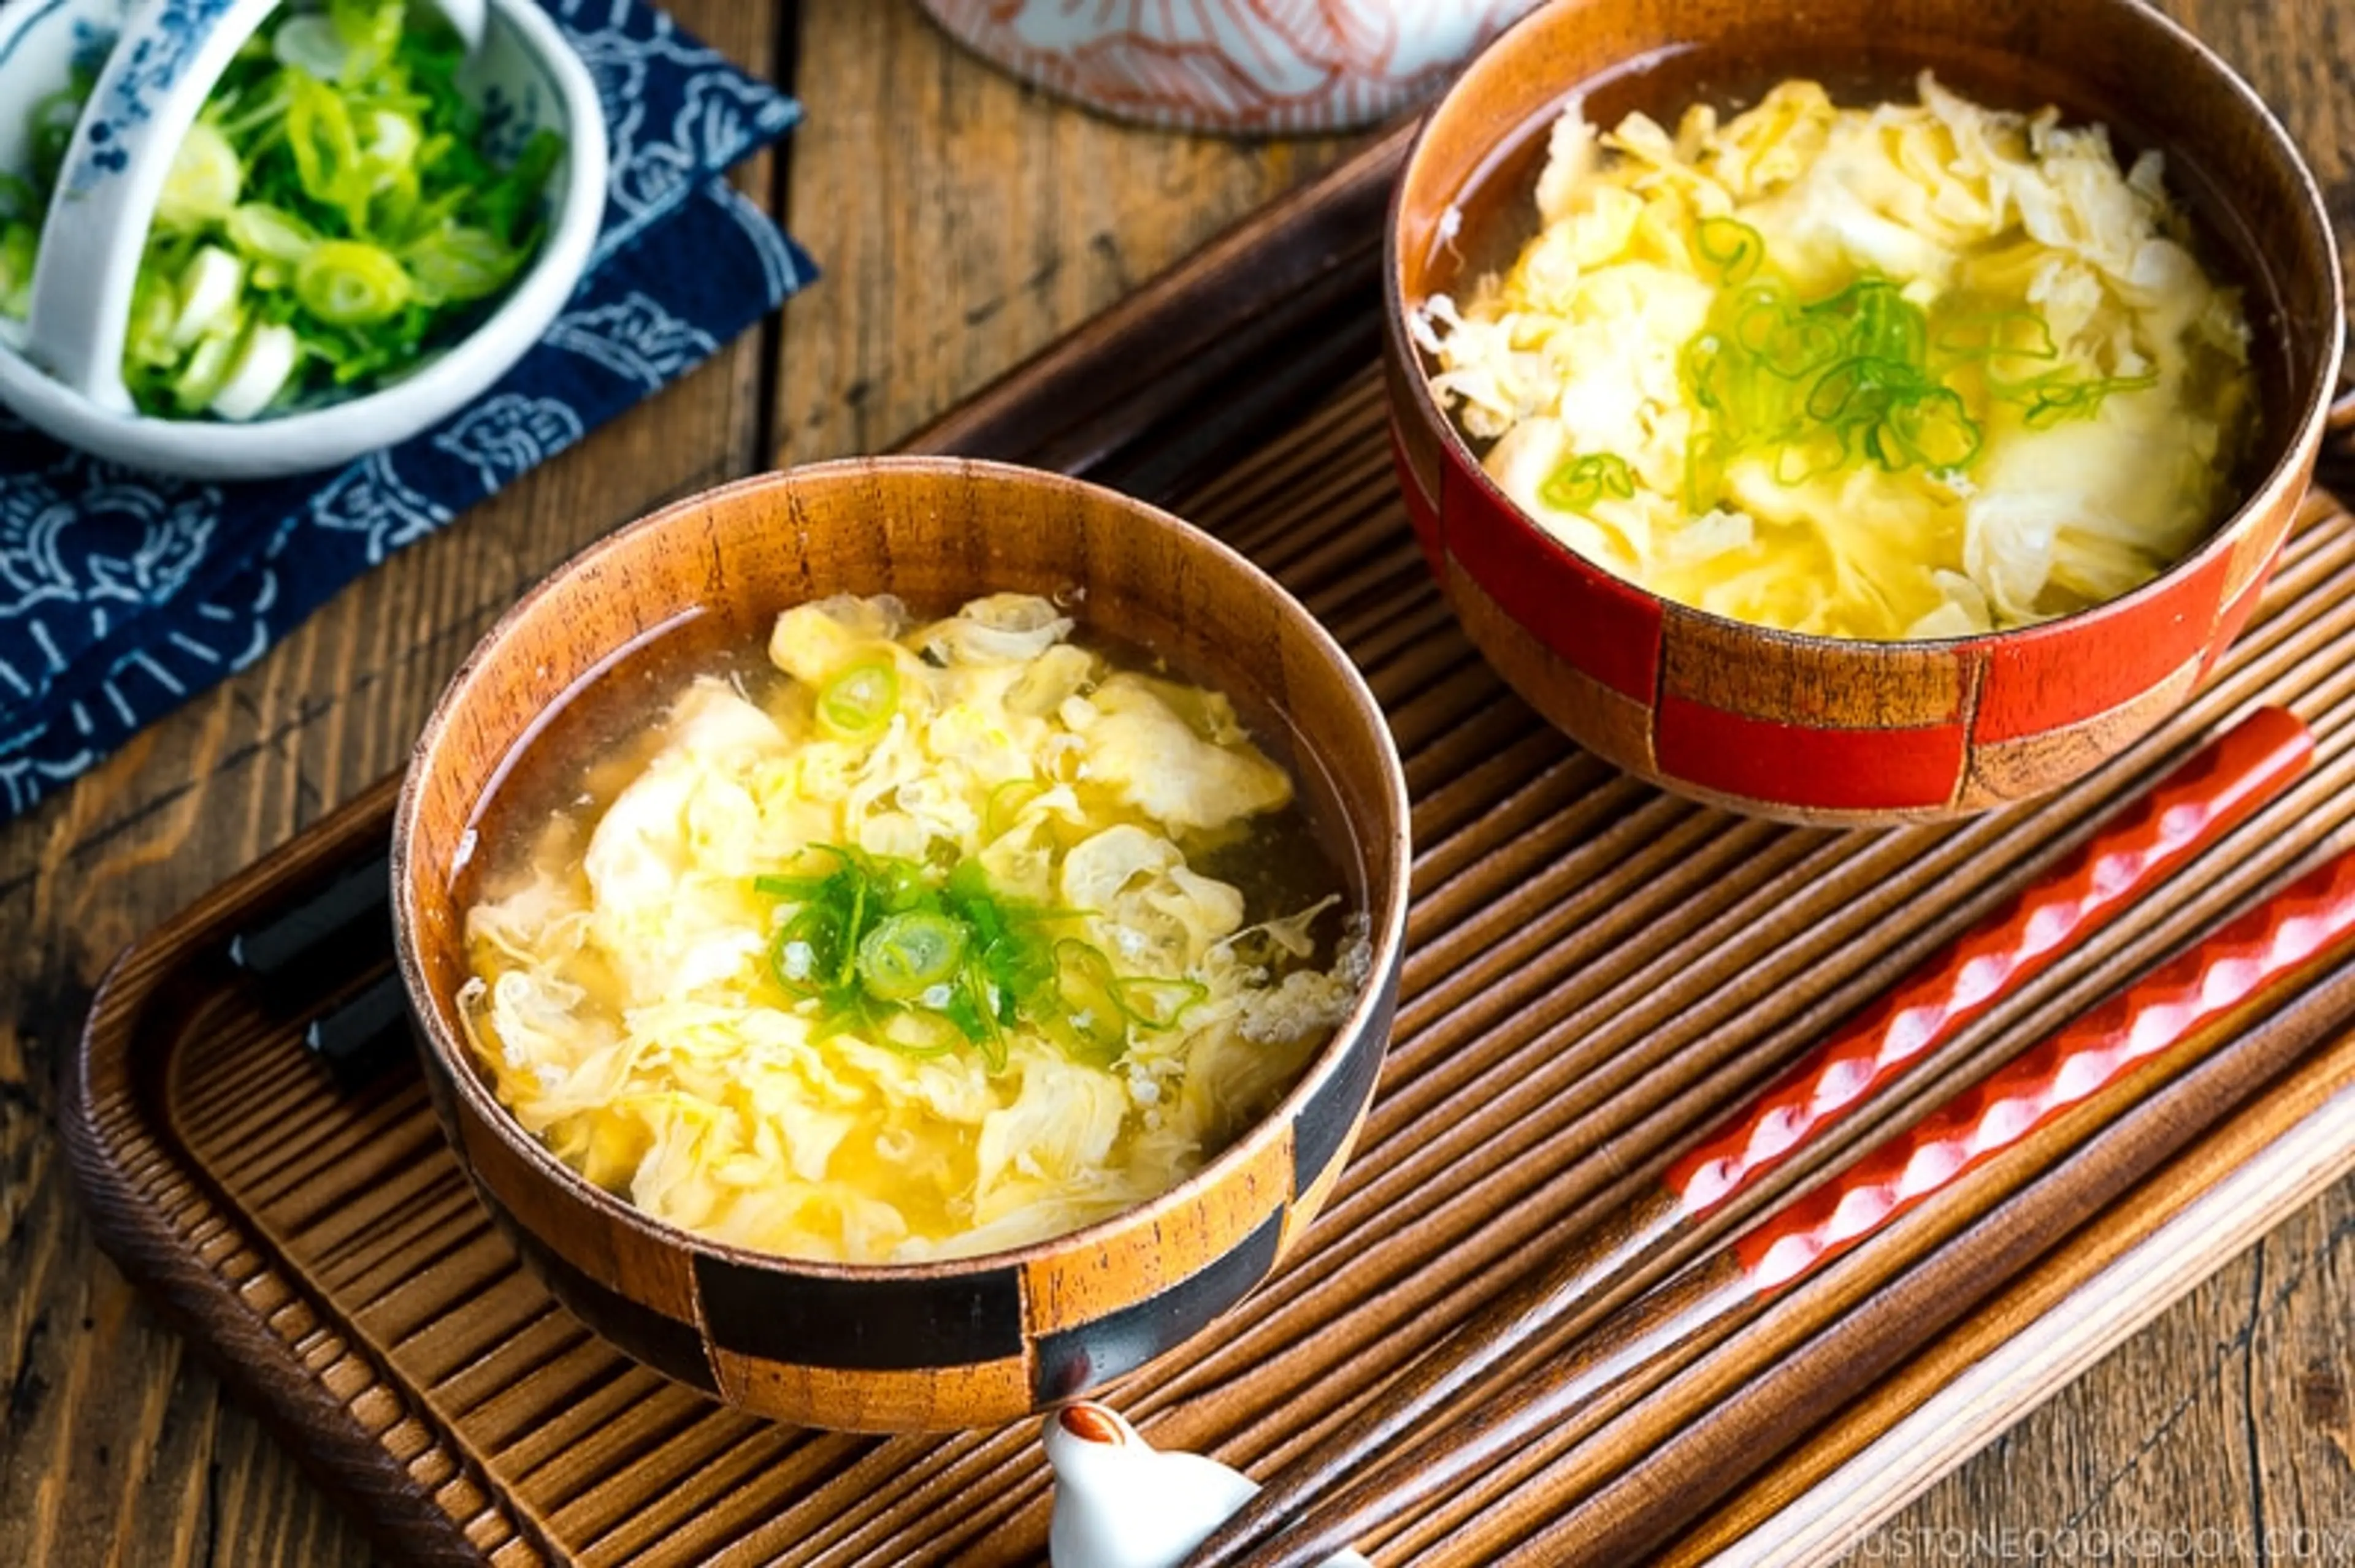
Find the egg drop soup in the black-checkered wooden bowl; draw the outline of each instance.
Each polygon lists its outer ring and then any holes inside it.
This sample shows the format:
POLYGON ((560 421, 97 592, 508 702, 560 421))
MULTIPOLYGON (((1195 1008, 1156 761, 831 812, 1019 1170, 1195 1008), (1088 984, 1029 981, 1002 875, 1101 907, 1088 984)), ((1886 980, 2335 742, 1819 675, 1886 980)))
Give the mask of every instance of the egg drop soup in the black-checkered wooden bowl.
POLYGON ((657 1220, 831 1262, 1072 1231, 1199 1170, 1356 1003, 1286 768, 1050 600, 657 655, 525 744, 459 885, 499 1099, 657 1220))

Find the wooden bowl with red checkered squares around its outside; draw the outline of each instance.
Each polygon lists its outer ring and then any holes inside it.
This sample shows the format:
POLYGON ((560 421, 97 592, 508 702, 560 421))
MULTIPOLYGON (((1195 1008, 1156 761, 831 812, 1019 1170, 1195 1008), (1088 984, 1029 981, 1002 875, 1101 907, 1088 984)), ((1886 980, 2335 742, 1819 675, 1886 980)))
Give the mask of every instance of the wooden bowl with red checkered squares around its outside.
MULTIPOLYGON (((1526 217, 1524 217, 1526 214, 1526 217)), ((1512 257, 1474 261, 1500 266, 1512 257)), ((2138 0, 1554 0, 1502 33, 1432 113, 1389 231, 1399 476, 1472 640, 1550 720, 1656 784, 1766 817, 1886 824, 2023 800, 2174 711, 2249 619, 2306 494, 2339 377, 2339 254, 2322 195, 2233 71, 2138 0), (1667 603, 1526 518, 1429 391, 1408 311, 1470 287, 1462 245, 1526 205, 1543 129, 1573 92, 1616 125, 1696 97, 1816 75, 1912 99, 1922 68, 2006 108, 2058 104, 2157 146, 2211 261, 2244 287, 2263 431, 2244 501, 2190 558, 2025 631, 1851 643, 1667 603), (1510 207, 1500 207, 1512 202, 1510 207)))

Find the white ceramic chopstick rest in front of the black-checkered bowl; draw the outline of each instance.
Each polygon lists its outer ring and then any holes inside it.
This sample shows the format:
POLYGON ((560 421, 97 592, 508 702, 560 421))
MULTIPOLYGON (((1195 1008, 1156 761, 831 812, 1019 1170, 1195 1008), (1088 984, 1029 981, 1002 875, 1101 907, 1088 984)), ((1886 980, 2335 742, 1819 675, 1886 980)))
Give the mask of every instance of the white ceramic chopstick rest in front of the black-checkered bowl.
MULTIPOLYGON (((1079 1401, 1046 1417, 1055 1467, 1055 1568, 1175 1568, 1260 1483, 1199 1453, 1161 1453, 1114 1410, 1079 1401)), ((1373 1568, 1340 1552, 1324 1568, 1373 1568)))

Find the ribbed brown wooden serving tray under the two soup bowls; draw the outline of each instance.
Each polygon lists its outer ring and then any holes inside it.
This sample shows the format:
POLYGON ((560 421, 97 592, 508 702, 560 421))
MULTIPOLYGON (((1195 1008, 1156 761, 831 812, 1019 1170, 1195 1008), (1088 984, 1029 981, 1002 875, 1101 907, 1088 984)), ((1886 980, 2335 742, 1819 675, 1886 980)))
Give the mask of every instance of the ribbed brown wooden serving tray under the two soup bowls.
MULTIPOLYGON (((1399 148, 1234 231, 914 443, 1090 473, 1220 532, 1349 647, 1406 756, 1411 956, 1361 1149, 1305 1250, 1114 1396, 1159 1443, 1258 1471, 2249 704, 2315 727, 2313 775, 1931 1062, 1908 1102, 2049 1031, 2355 817, 2355 518, 2324 497, 2216 680, 2035 808, 1783 829, 1573 749, 1458 633, 1389 476, 1375 283, 1399 148)), ((476 1205, 414 1067, 344 1090, 304 1048, 389 970, 382 937, 268 986, 231 963, 240 932, 382 855, 393 786, 141 939, 99 989, 61 1121, 106 1250, 405 1556, 1036 1561, 1034 1427, 780 1429, 636 1368, 556 1307, 476 1205)), ((1670 1554, 1837 1552, 2355 1165, 2350 1083, 2355 1045, 2313 1050, 1813 1420, 1670 1554)), ((1764 1377, 1722 1406, 1802 1394, 1764 1377)), ((1378 1552, 1481 1561, 1502 1544, 1425 1519, 1378 1552)))

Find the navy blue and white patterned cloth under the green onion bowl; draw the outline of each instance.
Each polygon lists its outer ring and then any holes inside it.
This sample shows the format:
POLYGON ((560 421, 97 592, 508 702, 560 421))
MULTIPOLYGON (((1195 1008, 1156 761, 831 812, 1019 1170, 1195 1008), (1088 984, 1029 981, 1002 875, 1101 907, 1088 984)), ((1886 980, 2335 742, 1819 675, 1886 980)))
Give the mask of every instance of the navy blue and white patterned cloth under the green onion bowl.
POLYGON ((539 5, 605 101, 605 231, 546 339, 478 403, 344 471, 252 485, 106 464, 0 410, 0 819, 815 275, 716 179, 801 118, 791 99, 641 0, 539 5))

